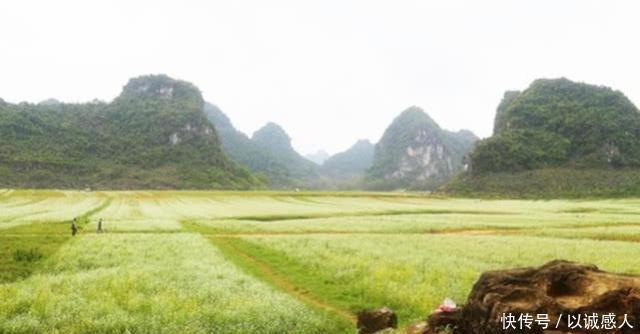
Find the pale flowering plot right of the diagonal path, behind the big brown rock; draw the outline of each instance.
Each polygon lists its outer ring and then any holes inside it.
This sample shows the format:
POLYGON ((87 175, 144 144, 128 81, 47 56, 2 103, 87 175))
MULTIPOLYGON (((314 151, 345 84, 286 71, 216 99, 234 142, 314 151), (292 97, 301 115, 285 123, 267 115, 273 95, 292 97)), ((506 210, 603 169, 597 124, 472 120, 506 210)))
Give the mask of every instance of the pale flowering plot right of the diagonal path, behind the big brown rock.
POLYGON ((356 311, 383 305, 400 324, 419 321, 444 298, 466 301, 483 271, 553 259, 637 274, 640 245, 524 235, 312 235, 242 237, 236 247, 294 284, 356 311))

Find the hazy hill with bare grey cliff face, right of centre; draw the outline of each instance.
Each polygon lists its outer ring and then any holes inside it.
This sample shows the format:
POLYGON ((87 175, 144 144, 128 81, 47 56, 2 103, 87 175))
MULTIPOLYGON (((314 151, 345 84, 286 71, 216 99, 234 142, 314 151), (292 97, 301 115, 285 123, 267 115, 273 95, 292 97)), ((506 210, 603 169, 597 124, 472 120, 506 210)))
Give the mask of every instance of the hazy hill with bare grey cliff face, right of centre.
POLYGON ((422 109, 411 107, 376 144, 367 184, 374 189, 435 189, 463 169, 476 139, 466 130, 443 130, 422 109))

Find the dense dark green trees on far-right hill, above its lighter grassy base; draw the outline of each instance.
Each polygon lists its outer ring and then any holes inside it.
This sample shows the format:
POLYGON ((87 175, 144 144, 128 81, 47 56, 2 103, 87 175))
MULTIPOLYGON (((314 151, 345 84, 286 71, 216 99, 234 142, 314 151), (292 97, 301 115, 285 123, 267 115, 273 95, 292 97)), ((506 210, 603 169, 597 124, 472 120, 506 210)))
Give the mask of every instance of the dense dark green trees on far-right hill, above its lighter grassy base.
POLYGON ((494 135, 471 154, 474 173, 548 166, 640 164, 640 114, 621 92, 567 79, 509 92, 494 135))

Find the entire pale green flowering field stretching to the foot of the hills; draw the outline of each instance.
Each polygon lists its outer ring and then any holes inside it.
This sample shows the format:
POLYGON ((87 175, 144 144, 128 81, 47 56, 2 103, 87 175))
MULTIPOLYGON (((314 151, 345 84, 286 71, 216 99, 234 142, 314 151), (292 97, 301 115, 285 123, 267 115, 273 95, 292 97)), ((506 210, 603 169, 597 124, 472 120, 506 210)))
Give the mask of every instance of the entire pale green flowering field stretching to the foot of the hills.
POLYGON ((353 333, 383 305, 406 326, 485 270, 640 274, 638 241, 640 199, 0 190, 0 333, 353 333))

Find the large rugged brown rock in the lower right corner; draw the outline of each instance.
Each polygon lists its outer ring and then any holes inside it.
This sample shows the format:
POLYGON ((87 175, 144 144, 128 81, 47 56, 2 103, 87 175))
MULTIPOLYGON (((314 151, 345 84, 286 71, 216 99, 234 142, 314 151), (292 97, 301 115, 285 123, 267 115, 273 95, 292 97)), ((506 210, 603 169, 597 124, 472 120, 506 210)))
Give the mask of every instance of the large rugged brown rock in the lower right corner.
POLYGON ((434 313, 423 333, 447 325, 457 334, 640 333, 639 315, 640 277, 552 261, 482 274, 467 304, 434 313))

